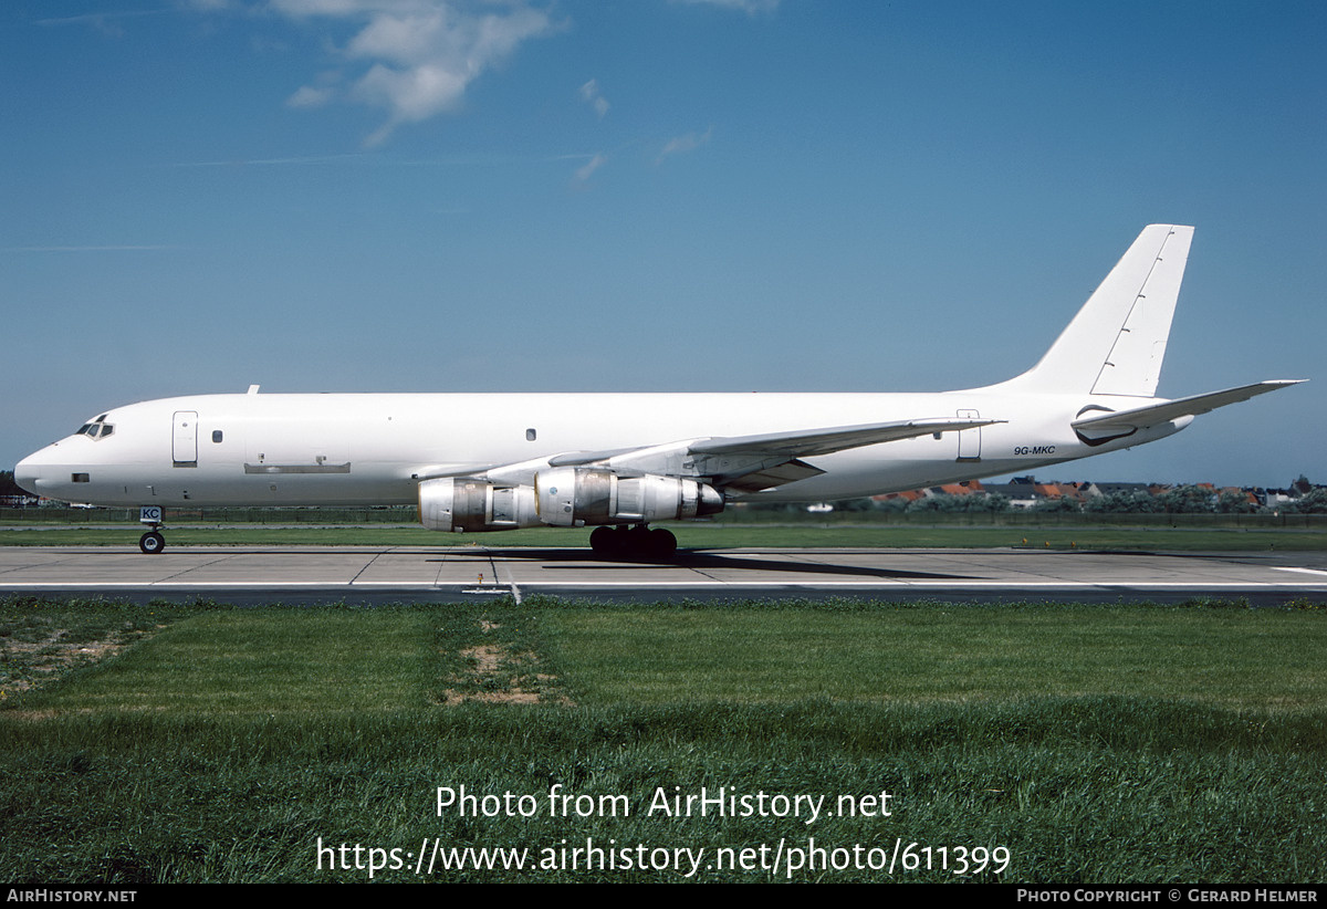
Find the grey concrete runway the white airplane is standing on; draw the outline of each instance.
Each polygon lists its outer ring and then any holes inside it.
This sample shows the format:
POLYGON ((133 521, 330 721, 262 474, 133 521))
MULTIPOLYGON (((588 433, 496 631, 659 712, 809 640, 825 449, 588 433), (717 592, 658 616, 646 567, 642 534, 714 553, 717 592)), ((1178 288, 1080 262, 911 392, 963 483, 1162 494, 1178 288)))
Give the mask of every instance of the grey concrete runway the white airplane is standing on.
POLYGON ((667 563, 518 547, 0 548, 0 594, 261 605, 869 597, 1113 602, 1327 600, 1327 553, 1038 549, 693 549, 667 563))

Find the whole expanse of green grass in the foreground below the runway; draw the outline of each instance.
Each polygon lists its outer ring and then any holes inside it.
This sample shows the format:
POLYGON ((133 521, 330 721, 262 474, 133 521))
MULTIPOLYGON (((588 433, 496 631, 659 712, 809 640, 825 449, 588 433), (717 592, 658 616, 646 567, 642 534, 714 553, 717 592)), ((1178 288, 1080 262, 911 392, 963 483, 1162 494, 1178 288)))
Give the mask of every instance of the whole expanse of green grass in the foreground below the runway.
MULTIPOLYGON (((537 860, 592 837, 713 860, 815 837, 874 855, 896 840, 1007 848, 1007 871, 977 880, 1320 881, 1327 613, 1299 605, 0 601, 5 665, 20 670, 35 657, 7 640, 31 629, 154 632, 3 701, 0 877, 368 880, 366 867, 320 868, 320 839, 403 856, 439 837, 537 860), (622 796, 632 813, 437 812, 438 787, 547 807, 555 784, 622 796), (661 791, 702 787, 829 804, 888 791, 893 813, 812 824, 646 813, 661 791)), ((402 865, 374 878, 419 880, 413 860, 402 865)), ((954 877, 851 867, 698 877, 790 876, 954 877)), ((425 878, 682 874, 559 865, 425 878)))

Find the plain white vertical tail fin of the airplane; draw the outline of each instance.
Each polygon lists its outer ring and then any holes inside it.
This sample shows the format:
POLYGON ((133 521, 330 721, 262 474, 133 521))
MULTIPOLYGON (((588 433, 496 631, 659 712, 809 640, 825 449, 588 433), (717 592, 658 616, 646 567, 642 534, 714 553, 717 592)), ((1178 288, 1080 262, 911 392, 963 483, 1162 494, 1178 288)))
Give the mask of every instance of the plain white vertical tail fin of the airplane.
POLYGON ((1154 395, 1192 240, 1192 227, 1143 228, 1046 356, 1010 384, 1154 395))

